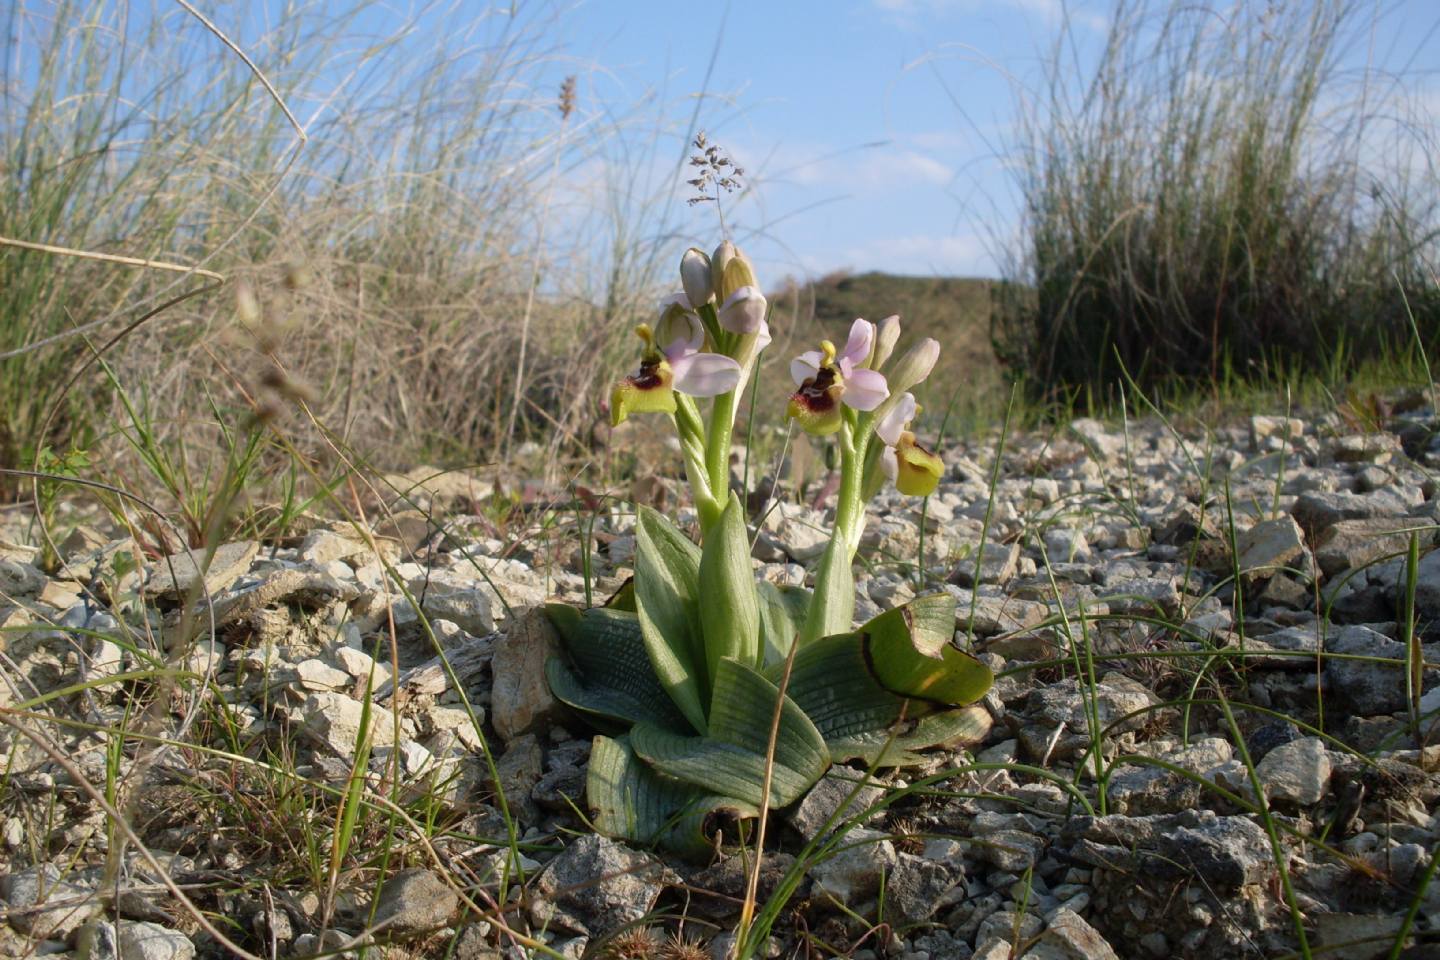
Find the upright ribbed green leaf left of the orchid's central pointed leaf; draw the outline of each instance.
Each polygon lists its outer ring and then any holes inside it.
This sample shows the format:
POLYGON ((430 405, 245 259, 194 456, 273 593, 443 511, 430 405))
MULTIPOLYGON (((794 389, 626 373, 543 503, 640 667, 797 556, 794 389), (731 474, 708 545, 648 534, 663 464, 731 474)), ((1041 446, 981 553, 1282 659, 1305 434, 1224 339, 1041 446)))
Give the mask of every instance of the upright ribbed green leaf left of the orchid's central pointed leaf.
POLYGON ((704 733, 706 649, 700 630, 700 547, 649 507, 635 522, 635 610, 655 675, 690 724, 704 733))

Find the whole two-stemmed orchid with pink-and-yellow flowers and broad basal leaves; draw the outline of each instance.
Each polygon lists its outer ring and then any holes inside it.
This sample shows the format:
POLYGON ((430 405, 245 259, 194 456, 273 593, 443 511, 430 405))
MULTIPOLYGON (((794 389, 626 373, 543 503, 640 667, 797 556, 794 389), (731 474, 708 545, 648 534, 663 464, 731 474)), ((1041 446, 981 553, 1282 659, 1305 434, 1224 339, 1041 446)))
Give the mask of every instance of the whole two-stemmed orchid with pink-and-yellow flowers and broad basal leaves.
POLYGON ((909 429, 919 413, 909 390, 930 374, 939 344, 891 357, 899 318, 857 320, 842 348, 821 341, 791 361, 788 417, 838 446, 834 533, 814 589, 757 581, 730 443, 770 343, 769 304, 730 242, 710 256, 687 250, 680 281, 655 324, 635 328, 639 361, 615 384, 611 417, 668 416, 701 543, 642 507, 631 587, 603 607, 547 607, 563 648, 547 679, 605 731, 586 783, 596 826, 700 853, 713 815, 786 806, 832 763, 900 766, 916 750, 978 740, 989 720, 972 704, 994 678, 950 643, 949 594, 852 622, 865 501, 887 478, 929 495, 943 474, 909 429))

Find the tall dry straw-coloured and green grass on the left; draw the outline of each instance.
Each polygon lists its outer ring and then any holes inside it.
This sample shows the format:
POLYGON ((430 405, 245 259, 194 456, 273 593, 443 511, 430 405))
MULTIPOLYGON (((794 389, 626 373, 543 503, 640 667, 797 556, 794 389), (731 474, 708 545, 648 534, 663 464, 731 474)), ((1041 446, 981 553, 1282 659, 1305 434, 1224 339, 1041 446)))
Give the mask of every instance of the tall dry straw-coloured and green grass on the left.
POLYGON ((562 86, 580 66, 552 39, 562 14, 10 4, 0 463, 114 442, 95 351, 158 440, 200 450, 213 412, 276 376, 380 466, 487 461, 511 429, 583 438, 596 413, 566 400, 605 370, 595 331, 648 309, 648 258, 671 253, 606 171, 636 117, 670 121, 652 94, 596 107, 585 76, 562 86))

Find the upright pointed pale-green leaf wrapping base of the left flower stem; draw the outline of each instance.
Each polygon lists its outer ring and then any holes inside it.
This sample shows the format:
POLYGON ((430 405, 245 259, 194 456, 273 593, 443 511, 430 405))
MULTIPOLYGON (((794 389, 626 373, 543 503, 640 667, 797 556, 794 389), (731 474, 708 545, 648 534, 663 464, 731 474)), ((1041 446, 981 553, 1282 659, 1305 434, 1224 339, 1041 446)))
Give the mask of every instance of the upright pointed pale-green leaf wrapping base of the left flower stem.
POLYGON ((706 639, 707 676, 716 676, 724 658, 759 665, 760 609, 750 566, 750 537, 744 528, 744 508, 734 492, 700 550, 700 626, 706 639))

